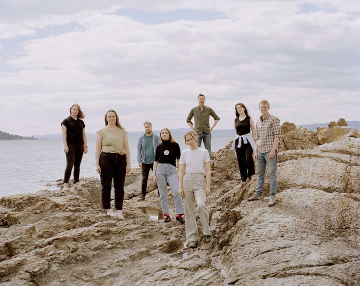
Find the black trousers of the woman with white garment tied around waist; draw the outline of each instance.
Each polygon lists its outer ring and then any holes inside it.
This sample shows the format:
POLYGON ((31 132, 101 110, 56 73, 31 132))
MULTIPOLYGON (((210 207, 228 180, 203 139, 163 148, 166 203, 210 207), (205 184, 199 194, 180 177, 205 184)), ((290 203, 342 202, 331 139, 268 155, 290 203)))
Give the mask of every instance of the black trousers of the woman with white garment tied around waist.
POLYGON ((240 138, 235 140, 235 150, 237 163, 240 170, 240 177, 241 180, 245 182, 247 178, 250 178, 253 174, 255 174, 255 167, 250 143, 244 144, 241 138, 241 148, 237 148, 239 139, 240 138))

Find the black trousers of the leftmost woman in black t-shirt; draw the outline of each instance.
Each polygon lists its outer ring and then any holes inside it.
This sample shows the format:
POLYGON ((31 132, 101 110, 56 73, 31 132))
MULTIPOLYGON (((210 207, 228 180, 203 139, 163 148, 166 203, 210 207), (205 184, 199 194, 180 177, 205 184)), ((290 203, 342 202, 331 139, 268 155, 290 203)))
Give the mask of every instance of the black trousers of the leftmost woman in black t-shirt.
POLYGON ((78 182, 80 175, 80 164, 83 155, 83 143, 67 145, 69 151, 66 155, 66 169, 64 173, 64 183, 68 183, 71 176, 72 167, 74 168, 74 183, 78 182))

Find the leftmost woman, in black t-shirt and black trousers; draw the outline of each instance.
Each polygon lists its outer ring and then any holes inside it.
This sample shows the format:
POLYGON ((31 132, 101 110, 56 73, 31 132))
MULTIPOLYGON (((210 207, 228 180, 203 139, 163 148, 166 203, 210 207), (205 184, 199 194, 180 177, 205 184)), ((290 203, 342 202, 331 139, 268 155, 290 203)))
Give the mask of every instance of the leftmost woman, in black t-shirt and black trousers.
POLYGON ((80 106, 74 103, 70 107, 70 116, 61 122, 62 143, 66 155, 66 169, 64 173, 64 184, 62 190, 69 189, 72 167, 74 168, 74 189, 81 189, 79 186, 80 164, 82 154, 87 153, 87 142, 85 124, 80 118, 84 118, 80 106))

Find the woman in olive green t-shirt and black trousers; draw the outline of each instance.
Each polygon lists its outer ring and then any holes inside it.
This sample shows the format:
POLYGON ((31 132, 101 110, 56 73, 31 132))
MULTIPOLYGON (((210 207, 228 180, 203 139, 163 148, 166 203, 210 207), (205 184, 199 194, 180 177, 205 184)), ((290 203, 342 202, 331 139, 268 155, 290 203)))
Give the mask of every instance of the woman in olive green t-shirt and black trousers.
POLYGON ((119 123, 115 110, 105 113, 105 127, 97 131, 95 149, 96 172, 101 178, 101 205, 106 214, 123 219, 125 176, 131 170, 127 133, 119 123), (111 182, 114 185, 115 211, 111 210, 111 182))

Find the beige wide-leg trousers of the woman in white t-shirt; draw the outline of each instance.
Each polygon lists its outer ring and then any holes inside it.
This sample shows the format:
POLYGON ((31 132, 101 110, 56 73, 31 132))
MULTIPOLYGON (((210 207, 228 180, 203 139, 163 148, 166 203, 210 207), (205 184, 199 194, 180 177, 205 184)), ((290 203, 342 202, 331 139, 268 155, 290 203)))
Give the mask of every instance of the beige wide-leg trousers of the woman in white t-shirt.
POLYGON ((205 206, 205 178, 203 173, 185 173, 182 180, 182 188, 184 190, 184 211, 185 211, 185 233, 188 242, 197 241, 199 238, 196 219, 195 219, 195 203, 198 208, 198 215, 202 225, 202 233, 210 234, 209 214, 205 206))

